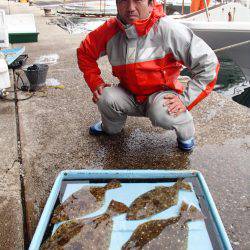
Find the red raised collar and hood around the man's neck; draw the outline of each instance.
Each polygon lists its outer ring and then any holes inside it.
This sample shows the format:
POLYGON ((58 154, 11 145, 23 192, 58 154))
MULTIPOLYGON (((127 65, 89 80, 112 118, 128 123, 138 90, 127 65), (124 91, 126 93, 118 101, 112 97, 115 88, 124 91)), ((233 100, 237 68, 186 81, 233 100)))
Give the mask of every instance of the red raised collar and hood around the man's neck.
POLYGON ((153 0, 154 8, 147 19, 139 19, 134 21, 132 24, 123 24, 119 17, 116 17, 118 27, 126 33, 128 38, 137 38, 146 35, 152 26, 159 20, 159 18, 165 16, 163 12, 163 6, 153 0))

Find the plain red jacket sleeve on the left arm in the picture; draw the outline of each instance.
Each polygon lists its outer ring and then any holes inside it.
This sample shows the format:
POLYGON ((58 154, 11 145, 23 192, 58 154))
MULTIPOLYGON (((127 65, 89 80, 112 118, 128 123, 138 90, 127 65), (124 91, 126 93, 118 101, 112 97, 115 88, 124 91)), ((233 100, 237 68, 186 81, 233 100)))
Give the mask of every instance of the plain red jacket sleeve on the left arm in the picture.
POLYGON ((97 59, 106 54, 106 44, 115 33, 114 19, 110 19, 90 32, 77 49, 78 66, 92 92, 104 83, 97 59))

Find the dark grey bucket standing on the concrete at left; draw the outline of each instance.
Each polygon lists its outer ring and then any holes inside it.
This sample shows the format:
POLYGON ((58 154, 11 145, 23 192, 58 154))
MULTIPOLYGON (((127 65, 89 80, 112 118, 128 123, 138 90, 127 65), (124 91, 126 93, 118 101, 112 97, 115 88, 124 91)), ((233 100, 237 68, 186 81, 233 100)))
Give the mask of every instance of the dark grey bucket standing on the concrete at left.
POLYGON ((36 91, 45 85, 48 69, 47 64, 34 64, 24 69, 30 82, 30 91, 36 91))

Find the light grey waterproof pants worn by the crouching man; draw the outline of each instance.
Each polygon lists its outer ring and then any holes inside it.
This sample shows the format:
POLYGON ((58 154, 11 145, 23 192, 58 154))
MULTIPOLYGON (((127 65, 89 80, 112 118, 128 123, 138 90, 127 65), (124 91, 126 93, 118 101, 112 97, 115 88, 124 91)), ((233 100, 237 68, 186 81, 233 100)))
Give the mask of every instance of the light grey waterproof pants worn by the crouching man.
POLYGON ((143 116, 148 117, 153 126, 174 129, 180 140, 191 139, 195 133, 193 117, 189 111, 170 116, 167 107, 163 106, 164 96, 168 93, 176 94, 173 91, 157 92, 139 104, 131 93, 119 86, 104 88, 97 102, 104 131, 117 134, 124 127, 127 116, 143 116))

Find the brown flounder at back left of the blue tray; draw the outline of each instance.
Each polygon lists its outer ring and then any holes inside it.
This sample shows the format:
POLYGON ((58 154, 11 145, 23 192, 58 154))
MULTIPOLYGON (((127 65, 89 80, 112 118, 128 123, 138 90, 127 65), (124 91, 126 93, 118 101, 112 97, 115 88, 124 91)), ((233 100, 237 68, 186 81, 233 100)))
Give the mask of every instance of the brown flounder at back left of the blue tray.
POLYGON ((55 224, 95 212, 103 205, 105 192, 119 187, 121 187, 120 182, 112 180, 104 187, 81 188, 56 207, 51 223, 55 224))

